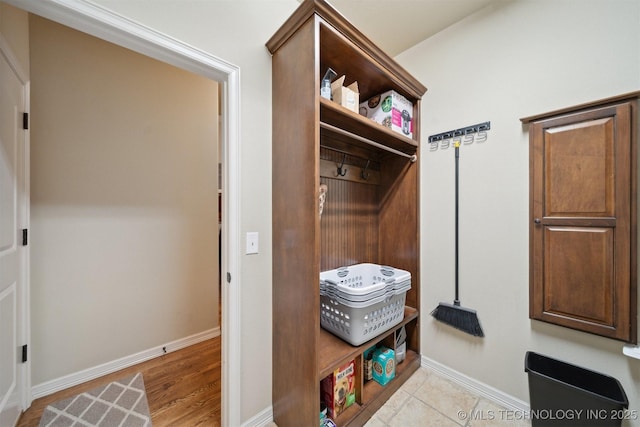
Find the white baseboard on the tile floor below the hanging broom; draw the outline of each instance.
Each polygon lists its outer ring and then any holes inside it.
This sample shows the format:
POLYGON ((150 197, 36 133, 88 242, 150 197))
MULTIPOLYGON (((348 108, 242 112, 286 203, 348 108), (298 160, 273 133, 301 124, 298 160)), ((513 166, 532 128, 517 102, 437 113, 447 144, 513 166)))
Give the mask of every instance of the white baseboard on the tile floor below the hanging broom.
POLYGON ((527 402, 517 399, 509 394, 498 390, 497 388, 491 387, 488 384, 473 379, 454 369, 451 369, 448 366, 443 365, 440 362, 436 362, 435 360, 430 359, 426 356, 422 356, 421 366, 423 368, 431 369, 437 372, 443 377, 446 377, 447 379, 461 385, 462 387, 472 391, 473 393, 485 397, 500 406, 503 406, 505 409, 522 412, 528 412, 530 409, 527 402))

